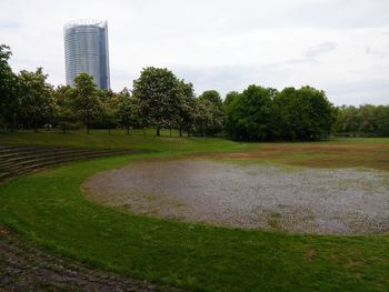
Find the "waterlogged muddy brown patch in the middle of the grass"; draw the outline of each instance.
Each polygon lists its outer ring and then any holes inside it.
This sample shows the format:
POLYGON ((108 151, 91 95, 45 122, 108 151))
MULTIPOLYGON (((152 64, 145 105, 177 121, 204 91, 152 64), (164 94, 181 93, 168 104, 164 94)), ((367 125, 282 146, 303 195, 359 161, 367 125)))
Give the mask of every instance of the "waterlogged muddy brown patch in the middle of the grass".
POLYGON ((139 162, 98 173, 92 201, 225 226, 313 234, 389 232, 388 173, 210 159, 139 162))

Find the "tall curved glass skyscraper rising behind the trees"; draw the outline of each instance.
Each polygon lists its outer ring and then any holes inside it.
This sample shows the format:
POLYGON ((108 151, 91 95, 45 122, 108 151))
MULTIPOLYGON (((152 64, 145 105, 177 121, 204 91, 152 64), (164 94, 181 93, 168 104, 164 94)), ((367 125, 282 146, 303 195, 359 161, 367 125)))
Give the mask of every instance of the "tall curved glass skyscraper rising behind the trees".
POLYGON ((107 21, 76 20, 63 27, 67 84, 87 72, 100 89, 110 88, 107 21))

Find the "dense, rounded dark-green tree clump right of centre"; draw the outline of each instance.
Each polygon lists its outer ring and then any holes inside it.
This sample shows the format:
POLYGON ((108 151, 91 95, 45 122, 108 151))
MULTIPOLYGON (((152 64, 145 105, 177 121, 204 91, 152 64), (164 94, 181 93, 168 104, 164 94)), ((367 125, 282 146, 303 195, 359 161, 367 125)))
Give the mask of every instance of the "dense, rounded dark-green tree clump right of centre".
POLYGON ((226 100, 226 129, 236 140, 319 140, 331 133, 335 109, 310 87, 281 92, 250 85, 226 100))

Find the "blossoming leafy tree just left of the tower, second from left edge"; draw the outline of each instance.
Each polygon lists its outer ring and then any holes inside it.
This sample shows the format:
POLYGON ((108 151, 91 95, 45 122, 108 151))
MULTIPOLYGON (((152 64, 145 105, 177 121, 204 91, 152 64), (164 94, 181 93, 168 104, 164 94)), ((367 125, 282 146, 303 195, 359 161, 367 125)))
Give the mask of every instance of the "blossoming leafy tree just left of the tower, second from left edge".
POLYGON ((36 72, 21 71, 18 75, 19 93, 22 108, 20 114, 28 125, 38 132, 38 127, 49 123, 54 117, 54 99, 52 87, 46 82, 42 68, 36 72))

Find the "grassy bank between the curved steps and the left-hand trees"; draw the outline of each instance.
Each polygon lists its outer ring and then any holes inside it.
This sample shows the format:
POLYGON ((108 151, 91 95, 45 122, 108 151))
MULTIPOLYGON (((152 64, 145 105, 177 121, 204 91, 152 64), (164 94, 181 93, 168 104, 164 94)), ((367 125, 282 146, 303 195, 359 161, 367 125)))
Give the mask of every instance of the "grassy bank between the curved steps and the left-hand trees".
POLYGON ((153 131, 148 130, 143 135, 140 130, 131 131, 127 135, 124 131, 114 130, 111 134, 102 130, 91 130, 90 134, 81 131, 74 132, 47 132, 22 131, 17 133, 0 133, 0 143, 7 144, 33 144, 33 145, 66 145, 66 147, 87 147, 90 149, 111 148, 111 149, 132 149, 139 151, 169 152, 169 151, 223 151, 231 149, 246 149, 247 143, 237 143, 223 139, 199 139, 199 138, 179 138, 177 132, 170 138, 168 131, 161 131, 162 137, 156 137, 153 131))

